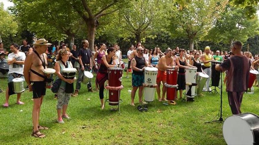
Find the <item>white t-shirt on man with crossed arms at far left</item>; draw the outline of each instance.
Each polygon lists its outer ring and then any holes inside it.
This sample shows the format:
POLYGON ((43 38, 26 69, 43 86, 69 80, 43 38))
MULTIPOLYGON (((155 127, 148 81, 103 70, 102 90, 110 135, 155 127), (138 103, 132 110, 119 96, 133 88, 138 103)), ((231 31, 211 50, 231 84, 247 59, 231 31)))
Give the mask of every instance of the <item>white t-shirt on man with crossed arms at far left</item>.
MULTIPOLYGON (((8 60, 12 60, 14 59, 14 57, 16 57, 16 54, 14 52, 8 54, 8 60)), ((25 58, 26 58, 25 53, 18 52, 17 59, 16 59, 17 61, 24 61, 25 58)), ((16 64, 16 63, 10 64, 8 74, 17 73, 17 74, 23 75, 23 68, 24 68, 23 64, 16 64)))

